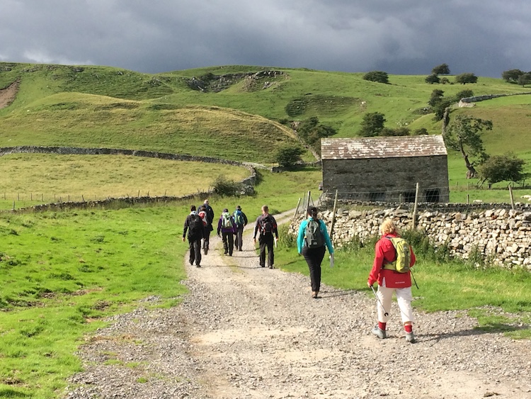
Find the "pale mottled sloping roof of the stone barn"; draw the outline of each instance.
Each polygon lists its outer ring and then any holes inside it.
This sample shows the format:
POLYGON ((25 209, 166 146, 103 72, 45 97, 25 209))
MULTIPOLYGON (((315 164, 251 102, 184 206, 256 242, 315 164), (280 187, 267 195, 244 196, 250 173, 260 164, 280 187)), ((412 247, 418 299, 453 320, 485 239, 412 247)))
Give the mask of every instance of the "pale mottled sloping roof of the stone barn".
POLYGON ((321 159, 431 157, 447 155, 441 135, 329 138, 321 140, 321 159))

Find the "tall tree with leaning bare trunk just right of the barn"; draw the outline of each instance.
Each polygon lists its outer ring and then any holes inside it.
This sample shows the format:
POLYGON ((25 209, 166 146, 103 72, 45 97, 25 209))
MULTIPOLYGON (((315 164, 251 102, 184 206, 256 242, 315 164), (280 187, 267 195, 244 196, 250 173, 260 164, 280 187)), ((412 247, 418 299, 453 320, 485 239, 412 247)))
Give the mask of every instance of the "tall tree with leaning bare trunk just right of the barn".
POLYGON ((487 158, 483 140, 481 140, 483 130, 492 130, 490 120, 458 115, 450 122, 442 135, 446 147, 461 153, 467 167, 467 179, 477 176, 475 165, 481 164, 487 158), (471 160, 472 157, 476 159, 471 160))

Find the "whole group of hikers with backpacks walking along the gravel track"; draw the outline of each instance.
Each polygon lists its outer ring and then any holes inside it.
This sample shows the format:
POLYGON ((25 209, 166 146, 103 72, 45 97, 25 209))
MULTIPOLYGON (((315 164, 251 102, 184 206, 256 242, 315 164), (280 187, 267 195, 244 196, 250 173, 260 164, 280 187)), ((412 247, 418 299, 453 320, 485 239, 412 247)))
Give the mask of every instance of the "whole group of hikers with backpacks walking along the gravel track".
MULTIPOLYGON (((196 267, 201 264, 201 249, 208 253, 210 232, 214 230, 214 210, 208 199, 196 210, 190 206, 190 214, 186 217, 183 230, 183 242, 188 232, 190 247, 190 265, 196 267)), ((230 213, 224 208, 217 223, 217 235, 222 238, 224 254, 232 256, 234 245, 237 250, 242 250, 244 227, 248 224, 241 206, 230 213)), ((387 338, 387 321, 391 309, 392 296, 396 295, 399 305, 401 320, 406 333, 406 342, 415 342, 413 335, 413 308, 411 300, 411 267, 416 262, 411 245, 400 237, 396 225, 391 219, 386 219, 379 227, 380 238, 375 245, 375 259, 367 279, 369 286, 377 298, 377 325, 372 329, 372 334, 379 339, 387 338), (378 283, 377 291, 373 285, 378 283), (387 309, 387 310, 386 310, 387 309)), ((253 241, 260 247, 259 266, 265 267, 266 251, 267 264, 273 269, 275 255, 274 247, 278 241, 278 226, 273 215, 269 214, 268 206, 262 206, 262 214, 256 218, 253 241)), ((333 245, 326 224, 318 218, 318 210, 314 206, 307 209, 307 218, 299 225, 297 234, 297 251, 304 257, 309 268, 312 298, 320 298, 321 264, 328 249, 331 266, 333 266, 333 245)))

